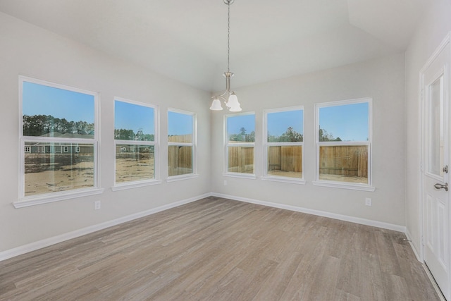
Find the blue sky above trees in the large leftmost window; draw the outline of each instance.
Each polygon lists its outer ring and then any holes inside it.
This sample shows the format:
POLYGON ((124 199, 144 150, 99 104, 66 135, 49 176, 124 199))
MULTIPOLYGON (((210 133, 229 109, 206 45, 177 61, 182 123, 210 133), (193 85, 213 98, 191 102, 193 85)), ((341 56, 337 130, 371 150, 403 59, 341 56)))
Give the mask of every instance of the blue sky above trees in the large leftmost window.
POLYGON ((51 115, 94 123, 94 96, 23 82, 23 115, 51 115))

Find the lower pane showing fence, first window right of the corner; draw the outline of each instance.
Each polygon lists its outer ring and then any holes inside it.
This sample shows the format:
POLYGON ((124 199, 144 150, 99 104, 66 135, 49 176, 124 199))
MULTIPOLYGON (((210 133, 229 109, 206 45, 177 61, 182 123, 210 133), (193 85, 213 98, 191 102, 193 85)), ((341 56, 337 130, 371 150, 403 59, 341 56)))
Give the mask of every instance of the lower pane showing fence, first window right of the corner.
POLYGON ((229 173, 254 173, 254 147, 228 147, 229 173))

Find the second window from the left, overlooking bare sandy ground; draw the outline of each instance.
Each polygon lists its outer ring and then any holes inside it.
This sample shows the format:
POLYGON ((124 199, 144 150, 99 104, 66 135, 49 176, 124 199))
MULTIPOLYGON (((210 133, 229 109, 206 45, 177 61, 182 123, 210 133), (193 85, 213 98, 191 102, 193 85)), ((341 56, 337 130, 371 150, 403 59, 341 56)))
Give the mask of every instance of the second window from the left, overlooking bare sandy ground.
MULTIPOLYGON (((116 97, 114 101, 115 185, 155 179, 156 107, 116 97)), ((144 183, 141 183, 144 184, 144 183)))

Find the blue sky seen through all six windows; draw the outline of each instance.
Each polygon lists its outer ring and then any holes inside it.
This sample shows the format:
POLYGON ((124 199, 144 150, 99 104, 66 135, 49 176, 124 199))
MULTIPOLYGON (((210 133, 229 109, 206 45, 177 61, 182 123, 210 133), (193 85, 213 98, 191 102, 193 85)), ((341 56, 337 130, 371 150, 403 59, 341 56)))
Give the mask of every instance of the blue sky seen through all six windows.
MULTIPOLYGON (((320 110, 319 125, 333 137, 343 141, 366 141, 369 136, 369 104, 346 104, 327 106, 320 110)), ((55 87, 23 82, 23 114, 51 115, 66 118, 67 121, 86 121, 94 123, 94 96, 55 87)), ((192 133, 192 115, 168 112, 168 135, 192 133)), ((292 126, 303 133, 303 116, 299 111, 268 113, 268 132, 270 135, 282 135, 292 126)), ((125 128, 144 134, 154 134, 154 109, 128 102, 115 102, 115 128, 125 128), (132 118, 130 118, 132 116, 132 118)), ((246 133, 255 130, 255 116, 238 115, 228 118, 228 135, 246 133)))

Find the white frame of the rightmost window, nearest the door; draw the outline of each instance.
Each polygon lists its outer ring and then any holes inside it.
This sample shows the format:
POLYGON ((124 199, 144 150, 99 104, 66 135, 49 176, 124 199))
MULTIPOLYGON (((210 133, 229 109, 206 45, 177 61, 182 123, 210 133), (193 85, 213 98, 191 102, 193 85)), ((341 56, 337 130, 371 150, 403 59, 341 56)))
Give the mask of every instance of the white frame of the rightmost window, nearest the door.
POLYGON ((364 97, 359 99, 346 99, 339 100, 335 102, 323 102, 315 104, 315 144, 316 144, 316 168, 315 168, 315 180, 312 182, 316 186, 324 186, 331 188, 344 188, 350 190, 363 190, 373 192, 376 190, 373 187, 373 156, 372 156, 372 145, 373 145, 373 99, 371 97, 364 97), (368 103, 368 140, 367 141, 340 141, 340 142, 320 142, 319 141, 319 110, 321 108, 330 106, 343 106, 347 104, 362 104, 368 103), (366 146, 368 148, 368 183, 351 183, 351 182, 341 182, 333 180, 320 180, 319 179, 319 149, 322 146, 366 146))

